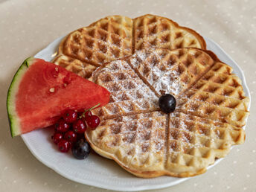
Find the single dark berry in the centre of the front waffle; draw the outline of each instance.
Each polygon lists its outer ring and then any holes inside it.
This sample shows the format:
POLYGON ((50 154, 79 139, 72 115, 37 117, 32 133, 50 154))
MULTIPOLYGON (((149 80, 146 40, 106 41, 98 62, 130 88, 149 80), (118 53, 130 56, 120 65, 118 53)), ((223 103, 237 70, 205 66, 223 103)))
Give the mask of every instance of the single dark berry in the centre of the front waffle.
POLYGON ((170 113, 175 110, 176 99, 173 95, 165 94, 159 98, 159 107, 162 112, 170 113))

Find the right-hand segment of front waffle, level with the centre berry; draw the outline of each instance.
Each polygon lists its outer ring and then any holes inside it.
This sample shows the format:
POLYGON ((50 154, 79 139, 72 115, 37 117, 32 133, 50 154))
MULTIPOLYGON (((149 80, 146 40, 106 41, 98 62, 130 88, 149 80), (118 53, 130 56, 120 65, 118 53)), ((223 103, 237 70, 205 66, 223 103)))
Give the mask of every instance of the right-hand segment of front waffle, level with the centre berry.
POLYGON ((184 96, 188 103, 182 111, 243 127, 249 115, 249 98, 239 77, 231 72, 230 66, 216 63, 184 96))

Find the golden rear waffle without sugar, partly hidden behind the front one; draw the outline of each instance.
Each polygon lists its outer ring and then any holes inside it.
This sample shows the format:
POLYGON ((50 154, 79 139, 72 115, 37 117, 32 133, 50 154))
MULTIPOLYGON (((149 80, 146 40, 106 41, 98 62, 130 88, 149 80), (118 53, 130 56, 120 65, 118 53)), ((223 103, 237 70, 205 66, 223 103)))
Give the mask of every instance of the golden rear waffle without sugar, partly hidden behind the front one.
POLYGON ((98 67, 149 47, 205 49, 206 45, 198 33, 167 18, 153 15, 135 19, 107 16, 65 36, 53 63, 61 63, 69 71, 89 78, 91 65, 98 67), (71 66, 68 61, 71 61, 71 66))

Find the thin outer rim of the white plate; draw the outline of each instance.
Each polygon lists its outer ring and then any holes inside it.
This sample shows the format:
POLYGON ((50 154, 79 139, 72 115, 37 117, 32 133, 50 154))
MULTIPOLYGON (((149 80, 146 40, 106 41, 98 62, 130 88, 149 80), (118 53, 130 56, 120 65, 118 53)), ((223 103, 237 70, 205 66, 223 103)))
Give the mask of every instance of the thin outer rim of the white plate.
MULTIPOLYGON (((42 54, 44 51, 47 51, 49 48, 51 48, 51 46, 54 45, 54 43, 60 41, 61 39, 63 39, 64 36, 60 36, 57 39, 54 39, 54 41, 50 42, 45 48, 42 48, 42 50, 38 51, 34 57, 36 57, 39 54, 42 54)), ((246 93, 246 96, 249 97, 249 106, 248 106, 248 111, 250 109, 251 106, 251 95, 249 92, 249 87, 247 86, 246 83, 246 77, 243 73, 242 68, 240 68, 240 66, 223 50, 223 48, 220 47, 220 45, 217 44, 217 42, 214 42, 214 40, 203 36, 203 38, 205 39, 205 42, 211 42, 212 45, 215 46, 215 48, 217 48, 221 54, 225 55, 225 57, 228 58, 228 60, 231 60, 232 63, 234 63, 234 65, 237 67, 237 70, 239 71, 240 75, 241 75, 241 80, 243 83, 243 89, 244 92, 246 93)), ((208 47, 207 47, 208 48, 208 47)), ((56 49, 56 48, 55 48, 56 49)), ((54 57, 56 56, 57 51, 54 52, 54 54, 51 55, 52 59, 54 59, 54 57)), ((215 53, 216 54, 216 53, 215 53)), ((247 123, 247 119, 246 119, 246 123, 247 123)), ((246 125, 243 127, 243 129, 245 129, 246 125)), ((71 181, 74 182, 78 182, 84 185, 91 185, 97 188, 103 188, 103 189, 108 189, 108 190, 113 190, 113 191, 144 191, 144 190, 153 190, 153 189, 160 189, 160 188, 167 188, 167 187, 171 187, 173 185, 177 185, 181 182, 185 182, 188 179, 191 179, 192 177, 186 177, 186 178, 179 178, 176 181, 173 182, 167 182, 165 184, 159 184, 159 185, 141 185, 141 186, 130 186, 129 188, 124 188, 124 186, 113 186, 113 185, 106 185, 106 184, 102 184, 102 183, 96 183, 93 182, 91 180, 83 180, 80 179, 79 177, 73 177, 73 176, 68 176, 68 173, 65 173, 65 171, 61 171, 58 169, 58 167, 56 167, 54 164, 51 164, 49 161, 45 161, 45 159, 43 159, 42 157, 39 156, 39 154, 36 153, 36 150, 33 149, 33 146, 31 146, 31 144, 28 143, 28 141, 26 140, 26 134, 21 135, 22 140, 25 142, 25 145, 28 147, 28 149, 30 150, 30 152, 33 154, 33 156, 36 157, 37 160, 39 160, 42 164, 45 164, 45 166, 51 168, 52 170, 54 170, 56 173, 60 174, 60 176, 65 177, 66 179, 70 179, 71 181)), ((234 146, 231 147, 231 149, 234 146)), ((217 159, 216 161, 214 161, 214 164, 211 164, 210 166, 207 167, 208 169, 211 169, 211 167, 214 167, 216 164, 218 164, 221 160, 223 160, 224 158, 221 159, 217 159)), ((138 178, 140 179, 140 178, 138 178)))

